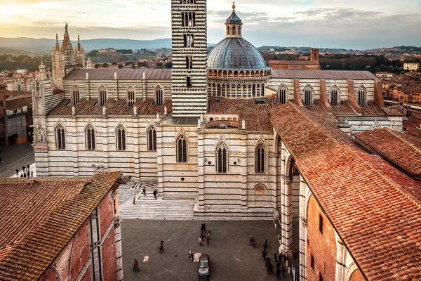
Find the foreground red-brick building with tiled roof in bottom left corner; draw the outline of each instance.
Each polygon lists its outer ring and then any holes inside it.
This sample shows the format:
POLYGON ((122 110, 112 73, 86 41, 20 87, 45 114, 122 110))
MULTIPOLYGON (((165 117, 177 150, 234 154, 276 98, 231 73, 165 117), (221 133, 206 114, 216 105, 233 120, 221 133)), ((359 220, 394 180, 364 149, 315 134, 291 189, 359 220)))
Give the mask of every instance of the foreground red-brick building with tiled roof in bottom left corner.
POLYGON ((0 178, 0 279, 123 280, 117 188, 126 181, 119 171, 0 178))

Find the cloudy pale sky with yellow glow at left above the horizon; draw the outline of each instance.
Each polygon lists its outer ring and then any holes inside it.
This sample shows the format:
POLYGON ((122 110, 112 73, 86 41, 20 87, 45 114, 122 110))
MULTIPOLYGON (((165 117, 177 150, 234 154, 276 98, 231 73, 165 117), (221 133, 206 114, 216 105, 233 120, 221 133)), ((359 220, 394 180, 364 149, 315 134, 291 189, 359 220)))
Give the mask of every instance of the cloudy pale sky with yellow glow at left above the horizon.
MULTIPOLYGON (((230 0, 208 0, 208 43, 225 37, 230 0)), ((237 0, 255 46, 421 46, 421 0, 237 0)), ((171 38, 171 0, 0 0, 0 37, 171 38)))

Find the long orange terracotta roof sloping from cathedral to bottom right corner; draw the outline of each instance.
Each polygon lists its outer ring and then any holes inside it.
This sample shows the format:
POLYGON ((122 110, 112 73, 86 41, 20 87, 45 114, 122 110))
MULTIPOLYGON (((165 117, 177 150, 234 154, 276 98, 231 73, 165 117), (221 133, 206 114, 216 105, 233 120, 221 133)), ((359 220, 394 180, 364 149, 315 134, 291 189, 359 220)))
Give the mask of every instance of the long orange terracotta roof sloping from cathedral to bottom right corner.
POLYGON ((293 103, 270 112, 300 173, 368 280, 421 280, 421 183, 293 103))

